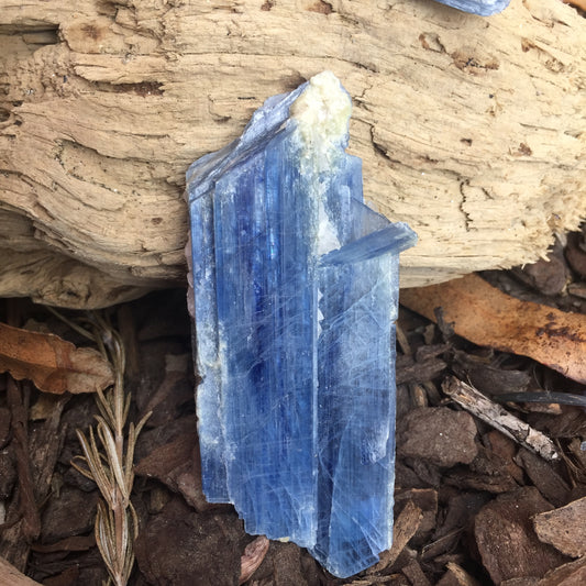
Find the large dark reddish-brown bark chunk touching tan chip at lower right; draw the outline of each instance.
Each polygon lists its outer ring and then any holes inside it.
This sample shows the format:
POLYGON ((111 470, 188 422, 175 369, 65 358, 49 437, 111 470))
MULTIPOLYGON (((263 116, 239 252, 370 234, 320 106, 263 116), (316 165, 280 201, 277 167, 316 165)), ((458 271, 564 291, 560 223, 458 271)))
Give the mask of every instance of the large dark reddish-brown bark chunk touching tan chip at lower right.
POLYGON ((564 556, 539 541, 531 517, 551 510, 537 488, 500 495, 476 516, 474 534, 483 564, 495 584, 519 577, 543 577, 564 556))

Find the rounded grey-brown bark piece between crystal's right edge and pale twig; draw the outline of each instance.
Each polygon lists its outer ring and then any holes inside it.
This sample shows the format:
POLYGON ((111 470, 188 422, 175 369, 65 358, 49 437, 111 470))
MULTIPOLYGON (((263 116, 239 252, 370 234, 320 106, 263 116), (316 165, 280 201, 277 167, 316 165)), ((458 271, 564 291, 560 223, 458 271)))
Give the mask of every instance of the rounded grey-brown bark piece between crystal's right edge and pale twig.
POLYGON ((447 407, 413 409, 398 422, 397 454, 440 466, 469 464, 478 452, 476 424, 464 411, 447 407))

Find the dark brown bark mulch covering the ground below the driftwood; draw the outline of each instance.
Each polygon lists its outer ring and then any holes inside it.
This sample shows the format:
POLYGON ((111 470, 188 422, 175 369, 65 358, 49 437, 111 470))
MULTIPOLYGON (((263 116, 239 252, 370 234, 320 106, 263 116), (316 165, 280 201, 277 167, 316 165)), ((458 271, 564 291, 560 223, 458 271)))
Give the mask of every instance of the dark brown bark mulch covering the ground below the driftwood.
MULTIPOLYGON (((543 280, 539 275, 529 285, 518 272, 485 276, 507 292, 528 296, 542 306, 586 309, 586 302, 581 305, 583 300, 572 294, 573 286, 585 285, 573 266, 570 277, 574 280, 559 296, 539 290, 538 283, 543 280)), ((498 402, 504 394, 584 396, 586 386, 530 357, 477 346, 458 336, 450 329, 447 312, 438 325, 408 309, 401 309, 398 322, 394 548, 383 553, 374 568, 347 579, 329 575, 294 543, 270 541, 266 552, 250 556, 246 552, 252 551, 254 538, 244 533, 233 508, 209 505, 201 494, 184 299, 183 290, 161 291, 126 303, 115 313, 133 356, 128 372, 134 398, 131 417, 154 410, 135 451, 132 501, 142 531, 140 565, 130 586, 236 586, 246 576, 246 586, 586 583, 586 557, 581 549, 586 541, 581 522, 586 498, 586 412, 567 405, 538 412, 521 399, 498 402), (464 389, 466 395, 469 388, 474 391, 468 403, 486 401, 486 417, 468 411, 451 394, 464 389), (506 429, 495 429, 501 421, 499 413, 513 418, 521 432, 506 434, 506 429), (539 455, 531 445, 535 438, 542 442, 538 446, 545 446, 544 455, 560 457, 552 461, 539 455), (248 559, 261 562, 252 575, 243 573, 250 570, 248 559)), ((67 327, 46 312, 43 318, 38 308, 26 307, 38 322, 49 323, 49 331, 79 343, 67 327)), ((1 303, 0 319, 4 319, 1 303)), ((5 378, 0 378, 0 390, 5 387, 5 378)), ((93 397, 51 396, 58 401, 53 405, 38 402, 41 394, 32 386, 26 392, 22 407, 41 534, 30 546, 20 528, 22 521, 4 526, 2 551, 46 586, 100 584, 106 573, 93 531, 88 530, 84 515, 75 512, 84 505, 90 509, 96 485, 70 466, 79 453, 75 429, 93 424, 93 397), (29 406, 33 405, 32 412, 29 406), (67 511, 73 511, 71 519, 67 511)), ((20 488, 13 413, 4 396, 0 392, 0 517, 5 511, 12 520, 20 488)))

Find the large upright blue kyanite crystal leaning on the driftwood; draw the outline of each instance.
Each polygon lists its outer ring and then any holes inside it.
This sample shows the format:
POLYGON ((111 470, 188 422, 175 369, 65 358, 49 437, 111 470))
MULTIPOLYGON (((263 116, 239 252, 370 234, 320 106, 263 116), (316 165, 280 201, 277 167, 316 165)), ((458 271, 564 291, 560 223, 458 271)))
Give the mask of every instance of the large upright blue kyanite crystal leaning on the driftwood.
POLYGON ((187 174, 203 489, 349 576, 391 544, 399 252, 331 73, 187 174))

